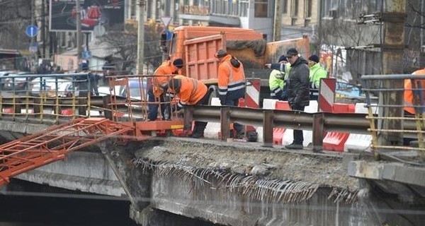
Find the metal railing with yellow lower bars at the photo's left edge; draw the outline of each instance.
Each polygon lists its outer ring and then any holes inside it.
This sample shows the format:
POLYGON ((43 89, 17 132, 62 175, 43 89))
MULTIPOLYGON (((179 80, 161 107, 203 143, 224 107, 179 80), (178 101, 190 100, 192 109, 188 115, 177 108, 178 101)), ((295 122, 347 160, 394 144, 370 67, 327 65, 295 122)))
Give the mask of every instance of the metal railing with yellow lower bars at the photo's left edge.
POLYGON ((91 115, 89 73, 0 77, 0 117, 28 121, 91 115))

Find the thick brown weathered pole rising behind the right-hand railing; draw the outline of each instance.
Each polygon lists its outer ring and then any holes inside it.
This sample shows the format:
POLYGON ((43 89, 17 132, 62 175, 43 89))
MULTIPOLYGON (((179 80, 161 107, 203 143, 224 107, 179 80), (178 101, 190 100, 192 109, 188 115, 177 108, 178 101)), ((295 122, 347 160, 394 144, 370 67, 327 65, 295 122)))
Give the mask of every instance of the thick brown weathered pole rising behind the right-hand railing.
MULTIPOLYGON (((401 74, 403 73, 403 53, 404 53, 404 20, 406 17, 406 1, 390 0, 383 4, 381 15, 382 23, 382 73, 383 74, 401 74)), ((391 92, 383 92, 382 105, 403 105, 403 88, 404 81, 382 81, 383 87, 391 87, 395 90, 391 92)), ((382 117, 402 117, 402 107, 382 107, 380 112, 382 117)), ((383 120, 382 129, 400 129, 402 128, 401 120, 383 120)), ((379 145, 399 145, 402 144, 402 133, 387 132, 379 136, 379 145)))

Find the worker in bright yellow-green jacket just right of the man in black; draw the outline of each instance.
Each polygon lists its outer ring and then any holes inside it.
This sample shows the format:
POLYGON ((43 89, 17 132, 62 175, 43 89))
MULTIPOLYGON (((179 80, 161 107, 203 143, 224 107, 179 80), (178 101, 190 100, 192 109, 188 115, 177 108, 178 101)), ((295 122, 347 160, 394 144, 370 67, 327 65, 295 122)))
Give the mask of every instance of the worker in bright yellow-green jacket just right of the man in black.
POLYGON ((319 57, 314 54, 308 58, 308 66, 310 67, 310 100, 318 100, 320 78, 327 78, 327 71, 320 66, 319 57))

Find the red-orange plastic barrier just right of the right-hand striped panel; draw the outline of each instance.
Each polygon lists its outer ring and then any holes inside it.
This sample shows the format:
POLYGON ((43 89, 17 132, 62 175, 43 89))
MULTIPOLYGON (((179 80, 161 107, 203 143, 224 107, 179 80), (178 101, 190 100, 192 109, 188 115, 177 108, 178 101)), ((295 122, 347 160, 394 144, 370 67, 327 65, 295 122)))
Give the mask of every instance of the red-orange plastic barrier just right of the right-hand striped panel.
MULTIPOLYGON (((335 103, 332 109, 333 113, 354 113, 356 105, 335 103)), ((348 136, 350 136, 350 133, 327 132, 323 138, 323 149, 343 152, 348 136)))

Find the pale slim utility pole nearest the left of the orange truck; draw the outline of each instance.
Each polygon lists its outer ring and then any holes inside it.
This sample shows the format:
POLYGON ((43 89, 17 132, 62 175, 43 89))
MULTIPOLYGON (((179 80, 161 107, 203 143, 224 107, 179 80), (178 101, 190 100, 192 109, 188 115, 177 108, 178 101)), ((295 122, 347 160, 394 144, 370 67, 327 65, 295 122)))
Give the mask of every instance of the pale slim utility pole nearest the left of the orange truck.
POLYGON ((137 25, 137 74, 143 74, 145 56, 145 0, 139 0, 139 18, 137 25))

